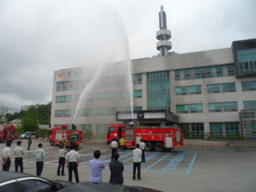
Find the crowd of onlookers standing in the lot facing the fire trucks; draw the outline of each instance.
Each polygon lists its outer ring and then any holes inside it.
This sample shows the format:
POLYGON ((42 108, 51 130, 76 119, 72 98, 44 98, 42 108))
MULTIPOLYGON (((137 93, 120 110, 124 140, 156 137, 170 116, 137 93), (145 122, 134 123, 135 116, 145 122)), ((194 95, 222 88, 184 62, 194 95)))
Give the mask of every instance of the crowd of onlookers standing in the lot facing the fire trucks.
MULTIPOLYGON (((141 143, 136 145, 136 149, 133 150, 133 179, 135 179, 136 171, 138 180, 141 179, 140 177, 140 167, 141 163, 145 162, 145 143, 143 140, 140 140, 141 143)), ((20 172, 23 172, 23 155, 24 149, 21 147, 22 142, 17 141, 17 147, 14 149, 15 154, 15 172, 18 172, 18 167, 20 167, 20 172)), ((125 150, 125 139, 122 137, 119 140, 121 145, 121 151, 125 150), (123 147, 122 147, 123 146, 123 147)), ((44 157, 46 157, 46 153, 43 149, 42 143, 38 144, 38 149, 35 150, 35 161, 37 176, 42 174, 44 168, 44 157)), ((118 153, 118 143, 116 140, 111 142, 111 162, 109 162, 109 169, 111 171, 111 176, 109 179, 109 183, 118 183, 123 184, 123 171, 125 169, 123 162, 119 161, 119 153, 118 153)), ((3 149, 2 152, 2 164, 3 164, 3 171, 9 171, 9 167, 11 166, 11 142, 6 143, 6 148, 3 149)), ((90 167, 90 182, 102 182, 102 169, 105 169, 105 164, 101 160, 101 151, 95 150, 94 152, 94 159, 90 160, 89 167, 90 167)), ((70 152, 66 152, 66 148, 64 145, 61 145, 59 148, 59 166, 57 169, 58 176, 64 176, 64 165, 66 161, 66 167, 68 168, 68 181, 72 182, 72 173, 75 174, 76 183, 79 183, 78 177, 78 166, 80 162, 80 155, 78 152, 75 151, 75 146, 70 146, 70 152), (65 157, 66 156, 66 157, 65 157)))

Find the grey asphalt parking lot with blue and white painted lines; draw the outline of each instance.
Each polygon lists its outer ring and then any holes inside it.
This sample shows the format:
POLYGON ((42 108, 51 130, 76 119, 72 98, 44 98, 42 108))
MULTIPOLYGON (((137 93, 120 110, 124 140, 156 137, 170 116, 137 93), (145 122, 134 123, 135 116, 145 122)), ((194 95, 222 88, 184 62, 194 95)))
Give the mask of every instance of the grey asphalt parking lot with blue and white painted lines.
MULTIPOLYGON (((35 174, 34 151, 38 143, 43 143, 46 151, 42 177, 68 181, 66 176, 57 176, 58 146, 51 146, 49 141, 33 141, 27 151, 27 140, 23 141, 25 149, 23 157, 24 172, 35 174)), ((0 143, 0 152, 6 147, 0 143)), ((15 171, 13 149, 11 168, 15 171)), ((69 149, 68 149, 69 150, 69 149)), ((80 182, 89 181, 90 169, 88 162, 92 160, 94 150, 101 150, 101 160, 105 163, 103 181, 109 182, 109 162, 111 161, 110 146, 103 144, 86 144, 78 148, 80 166, 78 174, 80 182)), ((145 186, 162 191, 255 191, 256 188, 256 148, 235 147, 180 147, 171 152, 146 152, 146 162, 142 164, 142 180, 132 179, 132 150, 119 152, 119 160, 125 165, 123 172, 126 185, 145 186)), ((73 176, 73 182, 75 178, 73 176)))

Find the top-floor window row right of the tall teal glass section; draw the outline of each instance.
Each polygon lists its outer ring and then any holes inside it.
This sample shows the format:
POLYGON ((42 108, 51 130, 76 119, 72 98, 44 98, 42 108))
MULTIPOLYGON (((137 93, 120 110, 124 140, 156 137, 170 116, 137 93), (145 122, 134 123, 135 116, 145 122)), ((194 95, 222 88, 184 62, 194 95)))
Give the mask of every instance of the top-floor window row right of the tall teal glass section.
POLYGON ((234 64, 175 70, 175 81, 235 76, 234 64))

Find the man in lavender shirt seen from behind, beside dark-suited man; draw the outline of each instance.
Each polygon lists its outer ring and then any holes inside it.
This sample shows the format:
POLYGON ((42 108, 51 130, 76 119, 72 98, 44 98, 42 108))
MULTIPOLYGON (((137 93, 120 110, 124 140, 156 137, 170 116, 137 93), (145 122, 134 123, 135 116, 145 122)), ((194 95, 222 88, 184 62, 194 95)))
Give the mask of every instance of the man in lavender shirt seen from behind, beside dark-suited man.
POLYGON ((102 182, 102 169, 105 169, 105 164, 99 158, 101 157, 101 151, 95 150, 94 159, 90 160, 90 182, 102 182))

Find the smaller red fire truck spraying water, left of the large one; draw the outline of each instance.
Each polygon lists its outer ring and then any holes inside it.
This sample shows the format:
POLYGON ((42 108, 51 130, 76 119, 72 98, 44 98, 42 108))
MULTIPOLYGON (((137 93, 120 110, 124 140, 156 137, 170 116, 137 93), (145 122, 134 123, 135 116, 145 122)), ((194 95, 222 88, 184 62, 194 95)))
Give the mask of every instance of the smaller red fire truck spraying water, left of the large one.
MULTIPOLYGON (((73 137, 76 138, 75 147, 79 147, 79 145, 83 145, 83 133, 78 129, 69 129, 68 126, 61 126, 52 128, 50 132, 50 143, 51 145, 62 145, 63 144, 63 136, 66 136, 68 140, 67 147, 72 145, 71 139, 73 137)), ((63 144, 64 145, 64 144, 63 144)))

